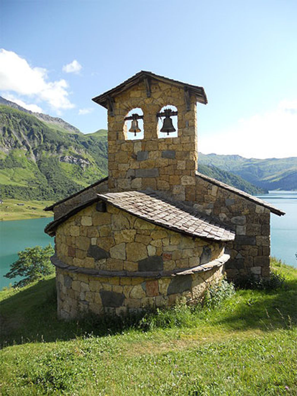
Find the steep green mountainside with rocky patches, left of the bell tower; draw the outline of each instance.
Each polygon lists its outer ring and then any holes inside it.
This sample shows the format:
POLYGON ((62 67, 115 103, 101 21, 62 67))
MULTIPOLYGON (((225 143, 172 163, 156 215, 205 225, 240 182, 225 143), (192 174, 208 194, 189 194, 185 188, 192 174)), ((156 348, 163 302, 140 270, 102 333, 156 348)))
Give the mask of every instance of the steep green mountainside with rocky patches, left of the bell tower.
POLYGON ((107 131, 62 125, 0 105, 2 198, 58 200, 107 175, 107 131))

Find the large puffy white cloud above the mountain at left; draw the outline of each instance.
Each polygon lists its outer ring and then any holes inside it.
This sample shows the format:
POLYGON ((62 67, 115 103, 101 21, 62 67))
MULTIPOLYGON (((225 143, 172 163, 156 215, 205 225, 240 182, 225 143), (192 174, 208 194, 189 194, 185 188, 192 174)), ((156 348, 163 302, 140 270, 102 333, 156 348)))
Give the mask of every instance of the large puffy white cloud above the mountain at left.
POLYGON ((65 80, 48 81, 47 70, 30 67, 26 59, 13 51, 0 49, 0 90, 30 95, 47 102, 53 109, 72 109, 65 80))

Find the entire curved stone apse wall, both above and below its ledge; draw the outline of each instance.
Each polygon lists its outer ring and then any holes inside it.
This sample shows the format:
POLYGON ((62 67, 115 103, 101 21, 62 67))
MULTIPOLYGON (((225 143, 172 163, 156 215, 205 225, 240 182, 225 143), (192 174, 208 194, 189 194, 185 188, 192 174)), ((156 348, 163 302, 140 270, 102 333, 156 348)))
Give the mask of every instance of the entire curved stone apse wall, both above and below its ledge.
POLYGON ((109 204, 101 209, 93 204, 57 228, 57 260, 72 266, 56 269, 59 317, 170 306, 181 297, 195 302, 222 276, 223 244, 167 230, 109 204), (86 270, 93 274, 80 273, 86 270))

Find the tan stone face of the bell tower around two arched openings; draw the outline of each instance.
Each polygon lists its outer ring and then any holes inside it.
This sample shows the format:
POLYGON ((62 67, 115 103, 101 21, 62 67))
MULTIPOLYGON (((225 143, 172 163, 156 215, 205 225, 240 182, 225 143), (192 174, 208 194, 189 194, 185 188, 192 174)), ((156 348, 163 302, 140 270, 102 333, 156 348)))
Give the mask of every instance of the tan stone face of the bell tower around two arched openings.
POLYGON ((152 79, 151 96, 147 97, 145 83, 139 82, 114 98, 108 129, 110 192, 152 188, 176 200, 186 199, 188 186, 195 185, 197 169, 195 95, 190 95, 187 110, 183 87, 152 79), (156 114, 166 105, 177 107, 178 137, 158 138, 156 114), (144 138, 127 140, 124 118, 139 107, 144 115, 144 138))

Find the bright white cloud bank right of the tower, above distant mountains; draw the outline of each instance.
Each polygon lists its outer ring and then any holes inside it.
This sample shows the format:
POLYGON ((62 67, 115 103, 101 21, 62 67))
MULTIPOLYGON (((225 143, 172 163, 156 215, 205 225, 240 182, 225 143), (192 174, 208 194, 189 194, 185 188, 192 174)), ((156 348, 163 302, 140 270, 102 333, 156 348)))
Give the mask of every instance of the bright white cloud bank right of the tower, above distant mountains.
POLYGON ((200 137, 198 146, 205 154, 284 158, 296 156, 296 136, 297 100, 282 101, 273 111, 238 120, 230 129, 200 137))

